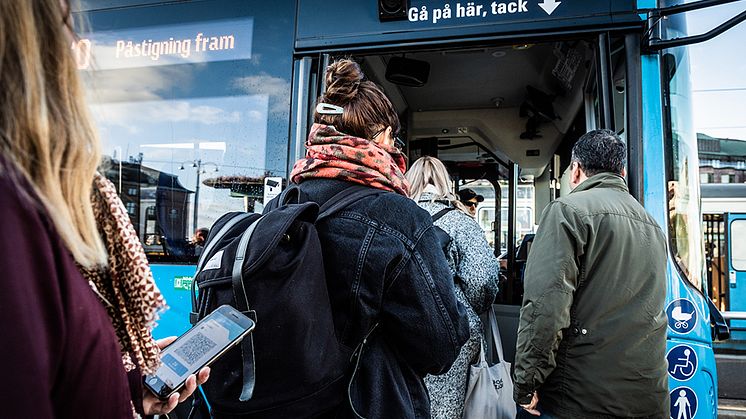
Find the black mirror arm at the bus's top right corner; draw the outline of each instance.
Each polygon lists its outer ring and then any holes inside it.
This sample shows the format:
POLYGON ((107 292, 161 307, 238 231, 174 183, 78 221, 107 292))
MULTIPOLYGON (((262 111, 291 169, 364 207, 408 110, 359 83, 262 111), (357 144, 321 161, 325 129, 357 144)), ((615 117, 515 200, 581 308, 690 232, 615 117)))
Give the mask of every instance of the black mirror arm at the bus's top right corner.
MULTIPOLYGON (((661 23, 663 19, 670 16, 741 1, 743 0, 700 0, 676 6, 641 10, 640 12, 647 14, 648 20, 647 28, 645 31, 646 36, 643 40, 644 49, 646 51, 661 51, 667 48, 681 47, 708 41, 746 20, 746 10, 737 14, 736 16, 733 16, 732 18, 703 34, 684 36, 673 39, 661 39, 661 23)), ((744 4, 746 4, 746 2, 744 2, 744 4)))

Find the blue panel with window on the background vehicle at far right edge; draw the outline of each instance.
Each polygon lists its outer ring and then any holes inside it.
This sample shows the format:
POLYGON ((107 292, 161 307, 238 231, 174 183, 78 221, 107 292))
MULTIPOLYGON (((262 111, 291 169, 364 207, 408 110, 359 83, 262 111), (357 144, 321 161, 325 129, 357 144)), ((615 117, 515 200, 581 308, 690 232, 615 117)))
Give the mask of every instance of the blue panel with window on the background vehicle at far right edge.
MULTIPOLYGON (((731 339, 746 341, 746 214, 726 213, 726 255, 728 310, 731 339)), ((732 342, 736 344, 736 342, 732 342)))

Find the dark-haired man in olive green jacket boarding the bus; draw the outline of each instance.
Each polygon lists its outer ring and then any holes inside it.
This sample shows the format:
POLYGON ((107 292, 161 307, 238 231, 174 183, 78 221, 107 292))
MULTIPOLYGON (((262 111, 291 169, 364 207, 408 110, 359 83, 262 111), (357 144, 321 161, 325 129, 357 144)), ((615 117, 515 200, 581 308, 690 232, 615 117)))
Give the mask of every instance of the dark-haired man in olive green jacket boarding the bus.
POLYGON ((666 241, 629 194, 626 158, 614 132, 583 135, 572 150, 573 191, 542 215, 515 356, 524 416, 669 416, 666 241))

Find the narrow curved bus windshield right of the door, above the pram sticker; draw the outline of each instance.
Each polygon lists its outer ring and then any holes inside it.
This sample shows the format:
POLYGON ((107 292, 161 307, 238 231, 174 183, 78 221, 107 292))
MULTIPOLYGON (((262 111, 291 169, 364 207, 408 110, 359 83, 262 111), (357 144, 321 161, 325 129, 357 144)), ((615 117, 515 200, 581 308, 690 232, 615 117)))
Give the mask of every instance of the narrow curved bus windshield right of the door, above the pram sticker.
MULTIPOLYGON (((686 33, 683 16, 665 25, 668 39, 686 33)), ((697 137, 692 124, 689 54, 686 47, 665 51, 668 79, 668 230, 674 259, 685 278, 697 289, 704 276, 704 245, 700 224, 699 158, 697 137)))

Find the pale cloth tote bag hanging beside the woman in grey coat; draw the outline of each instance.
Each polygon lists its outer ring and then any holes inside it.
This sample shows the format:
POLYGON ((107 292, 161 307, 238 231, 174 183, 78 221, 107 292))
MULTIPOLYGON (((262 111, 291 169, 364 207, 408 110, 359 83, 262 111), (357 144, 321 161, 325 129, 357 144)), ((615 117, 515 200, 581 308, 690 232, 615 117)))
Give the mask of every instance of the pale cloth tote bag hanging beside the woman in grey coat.
POLYGON ((514 419, 516 415, 516 404, 513 401, 513 381, 510 378, 510 363, 506 362, 503 356, 503 345, 497 327, 497 318, 491 308, 489 323, 492 340, 499 359, 495 365, 490 366, 485 357, 484 346, 482 346, 479 353, 479 362, 469 367, 464 419, 514 419))

